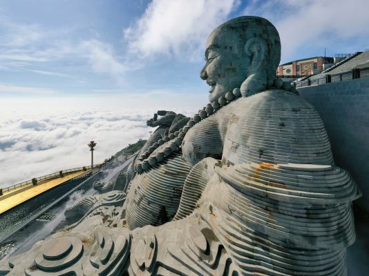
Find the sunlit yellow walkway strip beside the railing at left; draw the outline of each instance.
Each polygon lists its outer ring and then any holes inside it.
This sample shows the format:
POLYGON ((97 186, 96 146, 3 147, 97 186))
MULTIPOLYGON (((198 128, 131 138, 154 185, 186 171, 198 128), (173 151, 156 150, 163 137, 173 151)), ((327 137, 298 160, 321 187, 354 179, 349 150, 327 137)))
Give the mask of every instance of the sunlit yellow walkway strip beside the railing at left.
POLYGON ((8 197, 7 199, 3 199, 0 201, 0 214, 6 212, 7 210, 23 203, 24 201, 27 201, 28 199, 31 199, 32 197, 35 197, 41 193, 46 192, 46 190, 50 190, 51 188, 54 188, 55 186, 58 186, 65 181, 77 177, 78 175, 82 175, 84 170, 78 170, 77 172, 71 172, 68 175, 65 175, 62 178, 57 178, 50 180, 46 183, 39 184, 33 188, 30 188, 28 190, 25 190, 24 192, 21 192, 17 195, 13 195, 12 197, 8 197))

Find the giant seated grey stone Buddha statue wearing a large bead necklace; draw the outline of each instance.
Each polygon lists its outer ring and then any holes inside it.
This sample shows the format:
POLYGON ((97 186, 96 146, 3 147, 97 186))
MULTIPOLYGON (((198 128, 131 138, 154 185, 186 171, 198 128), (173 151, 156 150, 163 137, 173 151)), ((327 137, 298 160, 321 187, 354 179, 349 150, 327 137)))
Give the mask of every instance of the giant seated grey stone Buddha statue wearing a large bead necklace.
POLYGON ((103 194, 110 213, 3 261, 0 275, 347 275, 361 193, 315 108, 276 79, 280 52, 266 19, 216 28, 200 72, 210 103, 140 152, 126 200, 103 194))

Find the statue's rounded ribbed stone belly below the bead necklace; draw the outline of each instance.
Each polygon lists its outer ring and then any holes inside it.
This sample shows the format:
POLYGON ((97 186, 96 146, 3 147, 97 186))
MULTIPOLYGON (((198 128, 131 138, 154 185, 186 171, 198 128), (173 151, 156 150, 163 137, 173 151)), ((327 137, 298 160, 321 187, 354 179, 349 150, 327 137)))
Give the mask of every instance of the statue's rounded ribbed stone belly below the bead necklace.
POLYGON ((126 199, 129 228, 158 226, 173 219, 189 170, 191 164, 181 153, 175 153, 148 172, 136 175, 126 199))

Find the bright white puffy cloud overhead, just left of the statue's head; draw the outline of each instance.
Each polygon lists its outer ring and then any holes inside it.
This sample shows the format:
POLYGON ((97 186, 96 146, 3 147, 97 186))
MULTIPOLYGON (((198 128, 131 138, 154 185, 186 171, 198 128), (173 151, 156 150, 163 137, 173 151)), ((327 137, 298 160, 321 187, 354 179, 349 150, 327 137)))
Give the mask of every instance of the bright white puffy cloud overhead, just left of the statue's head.
POLYGON ((198 60, 209 32, 236 6, 236 0, 154 0, 124 35, 131 52, 142 57, 175 54, 198 60))

